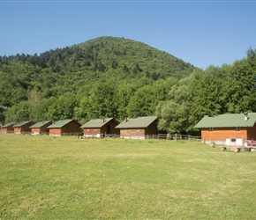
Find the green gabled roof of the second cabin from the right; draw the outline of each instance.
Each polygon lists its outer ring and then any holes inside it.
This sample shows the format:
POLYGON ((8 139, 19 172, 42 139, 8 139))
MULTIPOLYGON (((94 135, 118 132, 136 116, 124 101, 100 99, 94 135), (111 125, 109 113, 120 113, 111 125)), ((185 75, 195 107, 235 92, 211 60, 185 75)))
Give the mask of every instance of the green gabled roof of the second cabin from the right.
POLYGON ((128 119, 118 124, 116 128, 147 128, 152 122, 157 120, 157 118, 157 116, 146 116, 128 119))

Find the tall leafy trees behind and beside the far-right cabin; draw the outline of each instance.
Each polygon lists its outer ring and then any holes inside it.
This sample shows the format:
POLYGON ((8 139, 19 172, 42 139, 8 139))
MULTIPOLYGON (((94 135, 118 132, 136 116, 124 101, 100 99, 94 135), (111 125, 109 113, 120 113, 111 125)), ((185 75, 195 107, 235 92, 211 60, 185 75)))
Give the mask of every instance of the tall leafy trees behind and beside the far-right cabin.
POLYGON ((161 101, 159 127, 169 133, 190 133, 204 115, 256 112, 256 49, 231 65, 194 70, 179 80, 161 101))

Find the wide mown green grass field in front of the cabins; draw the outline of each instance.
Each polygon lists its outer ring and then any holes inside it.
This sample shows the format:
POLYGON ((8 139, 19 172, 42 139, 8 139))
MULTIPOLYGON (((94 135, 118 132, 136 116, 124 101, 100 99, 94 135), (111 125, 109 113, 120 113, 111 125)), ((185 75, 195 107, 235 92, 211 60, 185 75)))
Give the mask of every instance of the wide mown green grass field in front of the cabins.
POLYGON ((256 152, 0 135, 0 219, 255 219, 256 152))

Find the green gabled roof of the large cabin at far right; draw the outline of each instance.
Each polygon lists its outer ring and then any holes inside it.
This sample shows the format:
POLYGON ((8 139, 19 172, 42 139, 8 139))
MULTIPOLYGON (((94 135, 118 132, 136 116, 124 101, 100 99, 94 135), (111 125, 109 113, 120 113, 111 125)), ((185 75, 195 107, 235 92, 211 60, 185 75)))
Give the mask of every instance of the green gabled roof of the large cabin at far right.
POLYGON ((248 113, 245 121, 244 114, 220 114, 215 116, 204 116, 194 128, 245 128, 253 127, 256 121, 256 113, 248 113))

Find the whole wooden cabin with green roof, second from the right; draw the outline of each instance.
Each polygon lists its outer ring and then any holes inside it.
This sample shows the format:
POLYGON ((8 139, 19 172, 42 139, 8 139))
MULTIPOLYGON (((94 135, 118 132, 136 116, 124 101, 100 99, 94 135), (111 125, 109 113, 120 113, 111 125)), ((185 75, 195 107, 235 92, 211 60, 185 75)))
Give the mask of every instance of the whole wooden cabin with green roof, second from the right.
POLYGON ((117 125, 120 129, 120 136, 131 139, 145 139, 145 136, 158 135, 157 129, 158 117, 146 116, 136 119, 125 118, 123 122, 117 125))

